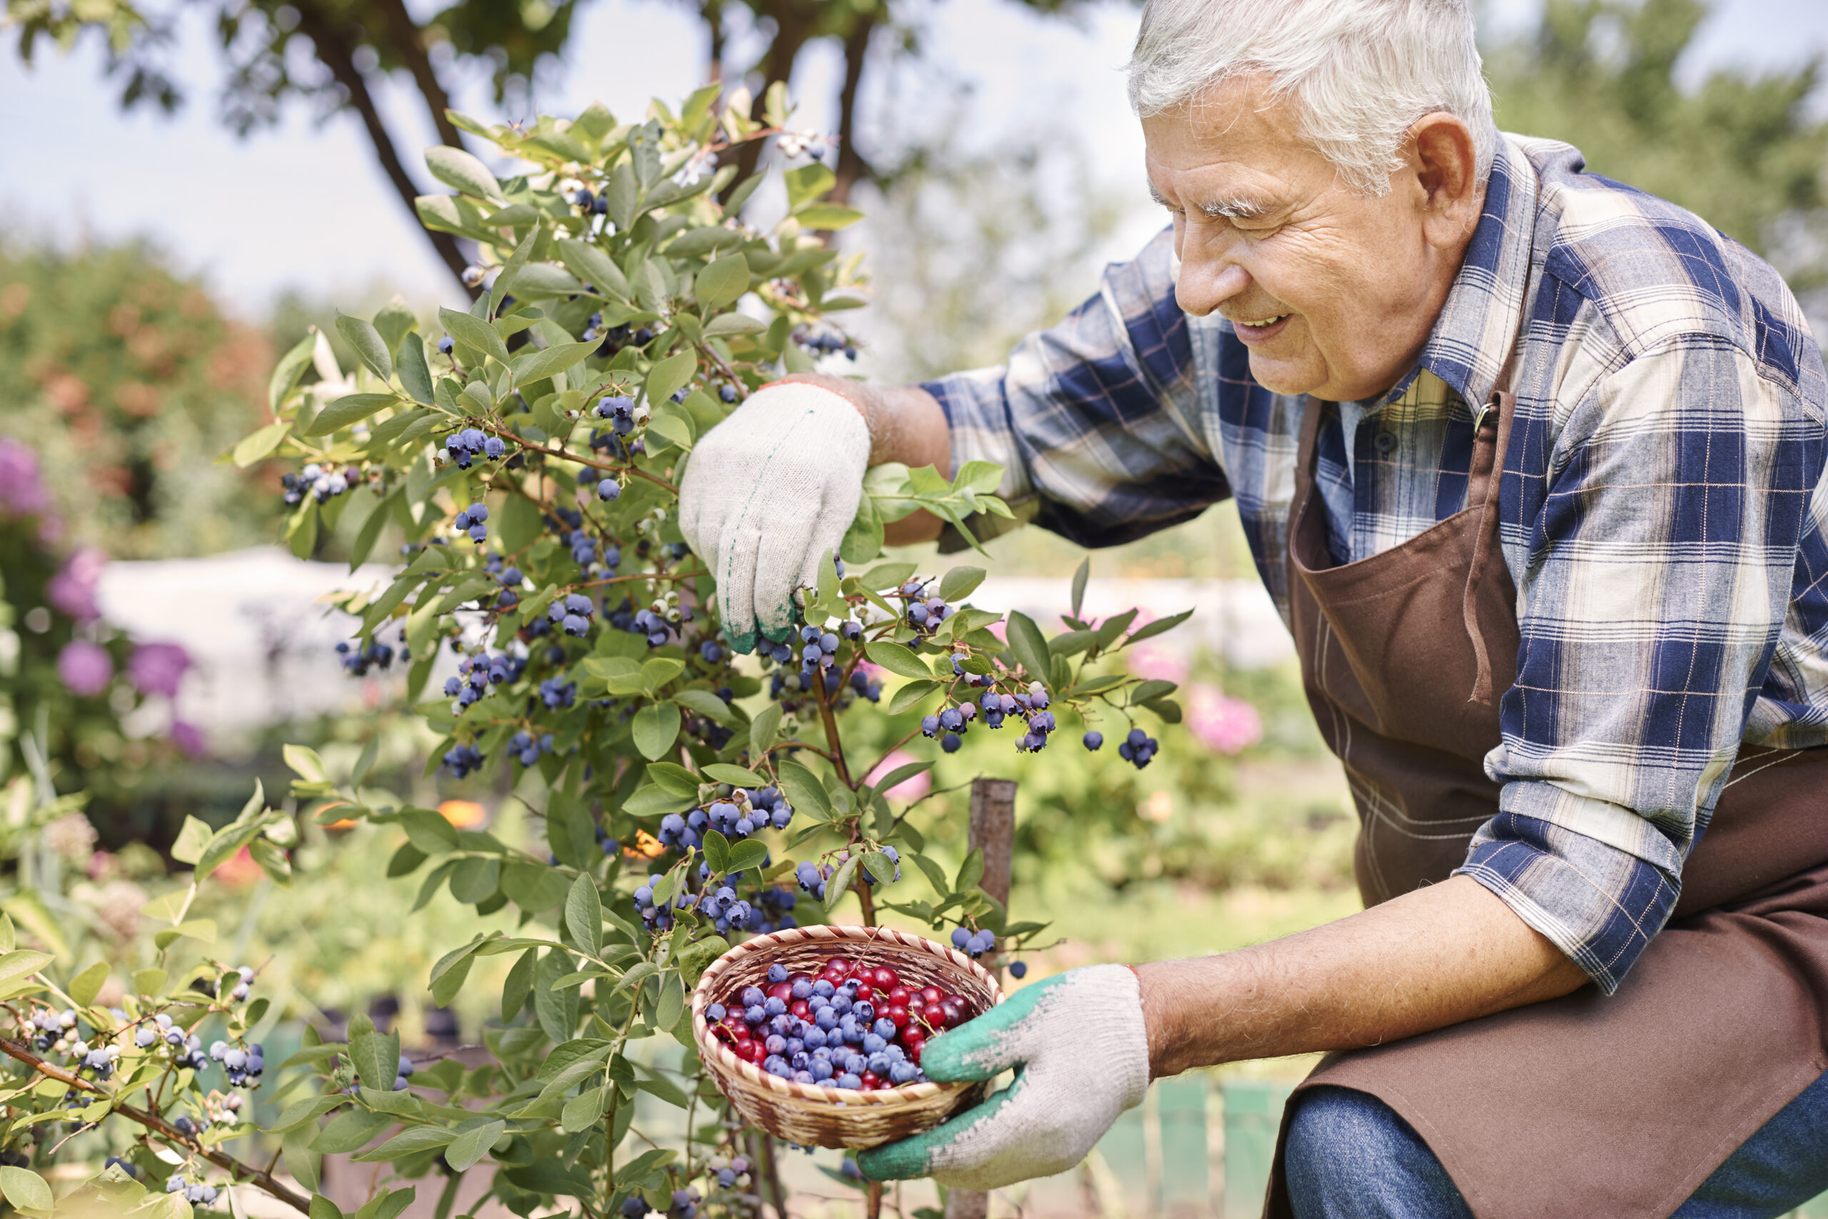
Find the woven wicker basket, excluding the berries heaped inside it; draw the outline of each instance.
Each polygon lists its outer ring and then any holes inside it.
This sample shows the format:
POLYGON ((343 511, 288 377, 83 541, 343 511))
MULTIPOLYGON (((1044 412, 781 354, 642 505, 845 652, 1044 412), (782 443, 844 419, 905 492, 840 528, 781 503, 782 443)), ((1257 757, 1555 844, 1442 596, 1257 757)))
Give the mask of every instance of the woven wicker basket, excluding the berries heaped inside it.
POLYGON ((1002 989, 963 952, 887 927, 790 927, 757 936, 717 958, 691 996, 691 1027, 698 1053, 718 1091, 742 1117, 768 1133, 819 1148, 874 1148, 932 1129, 983 1098, 983 1084, 903 1084, 881 1091, 795 1084, 768 1075, 729 1053, 711 1036, 704 1009, 749 985, 766 985, 768 967, 817 974, 826 958, 843 952, 872 967, 887 965, 907 985, 938 985, 978 1012, 1002 1002, 1002 989))

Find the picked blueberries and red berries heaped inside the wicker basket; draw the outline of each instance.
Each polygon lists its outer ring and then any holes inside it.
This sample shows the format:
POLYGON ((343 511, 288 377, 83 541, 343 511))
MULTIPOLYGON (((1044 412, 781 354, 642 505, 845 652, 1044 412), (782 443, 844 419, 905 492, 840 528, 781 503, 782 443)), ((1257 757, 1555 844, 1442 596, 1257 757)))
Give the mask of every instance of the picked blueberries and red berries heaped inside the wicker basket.
POLYGON ((832 958, 817 974, 768 967, 768 987, 711 1003, 713 1036, 770 1075, 797 1084, 876 1091, 918 1084, 927 1038, 967 1018, 938 987, 903 985, 896 970, 832 958))

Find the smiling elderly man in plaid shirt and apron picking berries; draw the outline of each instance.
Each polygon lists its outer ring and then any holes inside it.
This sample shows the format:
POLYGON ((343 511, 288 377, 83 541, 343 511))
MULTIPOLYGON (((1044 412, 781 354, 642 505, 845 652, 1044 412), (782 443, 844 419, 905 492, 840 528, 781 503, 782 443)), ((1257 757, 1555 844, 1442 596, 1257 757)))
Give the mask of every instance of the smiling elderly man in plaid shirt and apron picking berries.
POLYGON ((1002 462, 1093 546, 1236 497, 1367 908, 1020 991, 925 1058, 1016 1082, 865 1173, 1060 1171, 1152 1076, 1340 1051, 1272 1214, 1828 1188, 1824 378, 1782 280, 1501 135, 1464 0, 1150 0, 1130 95, 1172 232, 1007 367, 757 393, 686 534, 779 634, 866 462, 1002 462))

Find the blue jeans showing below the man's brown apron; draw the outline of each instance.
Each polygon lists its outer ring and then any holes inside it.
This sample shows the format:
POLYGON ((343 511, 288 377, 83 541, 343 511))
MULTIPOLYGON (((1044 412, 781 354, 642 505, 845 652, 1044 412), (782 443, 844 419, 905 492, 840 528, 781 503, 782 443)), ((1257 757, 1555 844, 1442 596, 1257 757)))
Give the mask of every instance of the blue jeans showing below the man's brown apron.
MULTIPOLYGON (((1296 1095, 1283 1170, 1296 1219, 1472 1219, 1440 1161, 1376 1097, 1296 1095)), ((1828 1075, 1802 1089, 1671 1219, 1771 1219, 1828 1190, 1828 1075)))

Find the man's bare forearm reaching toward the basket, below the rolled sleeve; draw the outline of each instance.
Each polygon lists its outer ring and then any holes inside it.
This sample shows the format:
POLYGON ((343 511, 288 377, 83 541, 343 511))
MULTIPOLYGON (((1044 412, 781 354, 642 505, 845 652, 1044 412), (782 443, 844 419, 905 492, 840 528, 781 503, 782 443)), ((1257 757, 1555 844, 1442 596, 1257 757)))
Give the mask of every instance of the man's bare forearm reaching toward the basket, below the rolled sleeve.
POLYGON ((1576 991, 1587 976, 1457 875, 1314 930, 1137 967, 1155 1076, 1378 1045, 1576 991))

